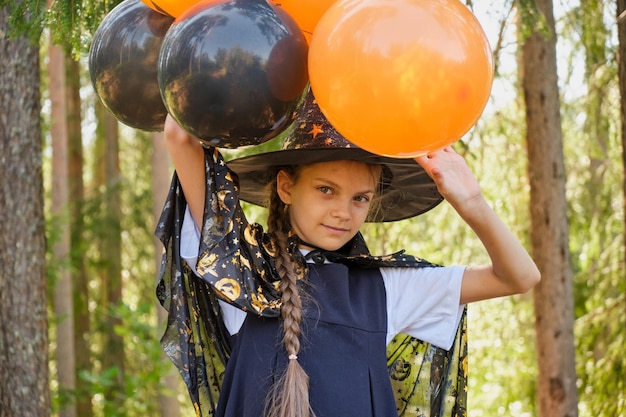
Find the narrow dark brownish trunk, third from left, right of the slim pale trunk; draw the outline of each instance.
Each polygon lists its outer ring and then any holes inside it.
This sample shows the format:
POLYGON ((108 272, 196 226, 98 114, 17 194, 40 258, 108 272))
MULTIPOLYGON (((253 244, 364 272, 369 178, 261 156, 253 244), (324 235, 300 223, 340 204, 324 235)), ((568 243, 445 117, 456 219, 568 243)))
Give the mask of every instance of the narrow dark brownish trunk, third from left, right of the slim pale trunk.
POLYGON ((65 85, 67 89, 67 137, 68 137, 68 186, 70 190, 70 253, 74 300, 74 351, 76 355, 76 414, 80 417, 93 416, 92 392, 87 381, 81 380, 81 373, 91 372, 91 348, 89 335, 89 277, 85 266, 85 223, 83 203, 83 144, 82 112, 80 99, 80 63, 70 56, 65 60, 65 85))

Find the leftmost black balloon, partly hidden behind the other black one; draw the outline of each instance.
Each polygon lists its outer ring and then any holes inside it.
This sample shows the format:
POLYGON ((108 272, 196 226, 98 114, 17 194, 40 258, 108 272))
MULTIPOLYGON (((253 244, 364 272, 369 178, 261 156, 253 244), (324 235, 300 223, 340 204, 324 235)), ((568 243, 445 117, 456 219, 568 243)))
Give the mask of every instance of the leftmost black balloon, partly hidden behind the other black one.
POLYGON ((157 62, 174 18, 140 0, 125 0, 105 16, 89 50, 89 73, 104 106, 122 123, 163 130, 157 62))

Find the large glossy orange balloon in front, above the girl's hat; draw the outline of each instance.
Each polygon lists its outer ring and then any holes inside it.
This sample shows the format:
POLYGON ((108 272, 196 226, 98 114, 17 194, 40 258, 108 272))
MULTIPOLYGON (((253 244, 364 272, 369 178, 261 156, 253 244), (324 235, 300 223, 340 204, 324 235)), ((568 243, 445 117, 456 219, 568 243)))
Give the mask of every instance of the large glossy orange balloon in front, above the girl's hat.
POLYGON ((458 0, 340 0, 315 28, 309 77, 348 140, 409 158, 457 141, 478 121, 493 57, 458 0))

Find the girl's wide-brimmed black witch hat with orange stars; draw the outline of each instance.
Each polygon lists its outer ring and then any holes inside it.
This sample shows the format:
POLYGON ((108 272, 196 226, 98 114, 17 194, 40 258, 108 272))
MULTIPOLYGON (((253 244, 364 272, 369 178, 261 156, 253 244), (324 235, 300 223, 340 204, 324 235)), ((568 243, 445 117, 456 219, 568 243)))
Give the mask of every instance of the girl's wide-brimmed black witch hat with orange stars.
MULTIPOLYGON (((290 129, 272 139, 272 149, 233 159, 229 168, 239 177, 240 198, 266 206, 267 184, 277 168, 339 160, 383 165, 379 209, 368 221, 396 221, 427 212, 443 197, 437 186, 414 159, 391 158, 359 148, 328 122, 309 90, 290 129), (278 142, 278 143, 276 143, 278 142)), ((267 147, 263 147, 267 149, 267 147)))

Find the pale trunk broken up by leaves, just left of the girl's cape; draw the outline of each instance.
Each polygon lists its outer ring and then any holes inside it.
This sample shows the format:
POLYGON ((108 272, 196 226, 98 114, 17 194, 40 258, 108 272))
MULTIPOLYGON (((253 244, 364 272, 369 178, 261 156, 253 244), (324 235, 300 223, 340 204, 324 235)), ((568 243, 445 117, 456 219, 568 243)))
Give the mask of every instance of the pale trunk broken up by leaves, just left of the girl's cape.
MULTIPOLYGON (((154 224, 159 220, 161 216, 161 210, 163 210, 163 204, 167 198, 169 191, 169 185, 171 180, 170 170, 170 158, 165 147, 165 139, 163 133, 153 133, 152 137, 152 214, 154 218, 154 224)), ((154 266, 155 271, 158 272, 161 268, 161 255, 163 254, 163 244, 156 237, 154 239, 154 266)), ((158 276, 158 274, 155 274, 158 276)), ((156 300, 156 299, 155 299, 156 300)), ((157 303, 158 323, 163 323, 167 319, 167 311, 161 304, 157 303)), ((169 362, 169 359, 163 355, 163 360, 169 362)), ((174 367, 171 367, 174 370, 174 367)), ((163 376, 161 381, 163 387, 170 393, 178 392, 179 383, 178 373, 169 372, 163 376)), ((162 417, 179 417, 180 406, 176 395, 166 395, 159 392, 159 404, 162 417)))

